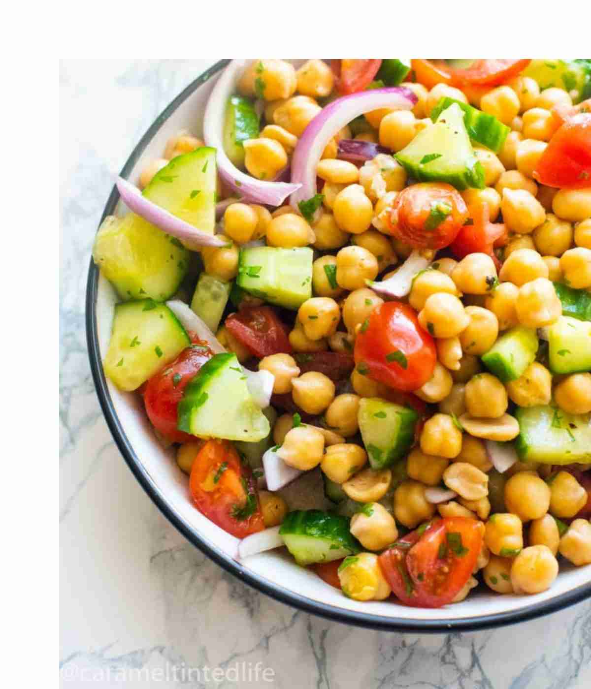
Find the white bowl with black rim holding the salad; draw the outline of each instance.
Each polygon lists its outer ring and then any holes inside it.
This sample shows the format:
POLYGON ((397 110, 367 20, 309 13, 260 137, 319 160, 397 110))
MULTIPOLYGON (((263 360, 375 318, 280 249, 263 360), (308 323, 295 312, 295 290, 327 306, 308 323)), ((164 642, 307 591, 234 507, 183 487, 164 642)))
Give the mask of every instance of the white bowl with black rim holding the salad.
MULTIPOLYGON (((141 138, 121 176, 137 182, 143 166, 161 156, 169 136, 179 130, 201 134, 206 101, 227 63, 220 61, 201 74, 168 105, 141 138)), ((118 200, 117 189, 113 188, 103 217, 116 212, 118 200)), ((591 596, 591 566, 562 567, 552 588, 538 595, 501 596, 479 590, 462 603, 428 610, 392 602, 350 600, 280 551, 237 562, 234 559, 237 539, 194 508, 188 495, 187 477, 177 467, 172 451, 164 451, 154 438, 139 395, 121 393, 105 377, 101 361, 108 347, 116 300, 110 283, 99 275, 91 260, 86 296, 88 352, 94 384, 113 438, 143 489, 170 522, 197 548, 243 582, 323 617, 371 628, 417 632, 512 624, 561 610, 591 596)))

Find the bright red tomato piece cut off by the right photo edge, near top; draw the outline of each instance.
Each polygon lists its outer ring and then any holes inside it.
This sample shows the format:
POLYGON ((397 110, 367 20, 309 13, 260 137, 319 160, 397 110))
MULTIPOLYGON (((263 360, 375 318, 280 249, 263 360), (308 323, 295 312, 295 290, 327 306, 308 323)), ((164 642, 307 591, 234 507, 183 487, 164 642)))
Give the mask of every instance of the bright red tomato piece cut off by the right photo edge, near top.
POLYGON ((554 132, 534 169, 547 187, 591 186, 591 113, 579 112, 554 132))

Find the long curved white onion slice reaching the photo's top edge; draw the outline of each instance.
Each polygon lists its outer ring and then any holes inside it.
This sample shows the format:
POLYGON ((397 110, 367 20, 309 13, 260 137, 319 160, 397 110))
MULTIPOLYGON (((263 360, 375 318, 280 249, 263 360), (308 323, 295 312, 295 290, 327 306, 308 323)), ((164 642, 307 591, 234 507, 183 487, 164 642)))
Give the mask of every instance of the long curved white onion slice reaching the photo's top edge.
POLYGON ((217 169, 223 182, 234 192, 253 203, 279 206, 299 188, 299 184, 264 182, 239 170, 223 150, 223 123, 226 119, 226 103, 236 91, 243 69, 250 60, 232 60, 221 73, 206 105, 203 119, 203 138, 206 145, 216 149, 217 169))

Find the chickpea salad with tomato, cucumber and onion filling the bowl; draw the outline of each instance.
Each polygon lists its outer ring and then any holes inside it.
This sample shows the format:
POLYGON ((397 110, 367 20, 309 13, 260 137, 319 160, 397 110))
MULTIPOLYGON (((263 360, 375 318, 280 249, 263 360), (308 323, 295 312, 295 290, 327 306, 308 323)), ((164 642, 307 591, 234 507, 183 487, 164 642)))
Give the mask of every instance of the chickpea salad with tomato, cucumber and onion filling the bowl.
POLYGON ((237 558, 430 608, 591 564, 591 59, 234 60, 117 187, 103 367, 237 558))

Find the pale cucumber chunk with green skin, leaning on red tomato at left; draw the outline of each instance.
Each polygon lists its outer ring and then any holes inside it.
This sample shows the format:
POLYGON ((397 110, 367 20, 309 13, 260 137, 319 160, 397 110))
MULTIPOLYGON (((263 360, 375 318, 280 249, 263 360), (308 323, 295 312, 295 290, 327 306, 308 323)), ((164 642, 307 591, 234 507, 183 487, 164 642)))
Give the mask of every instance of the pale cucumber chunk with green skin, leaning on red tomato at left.
POLYGON ((200 438, 246 442, 269 435, 269 422, 252 400, 234 353, 213 356, 184 389, 178 428, 200 438))

